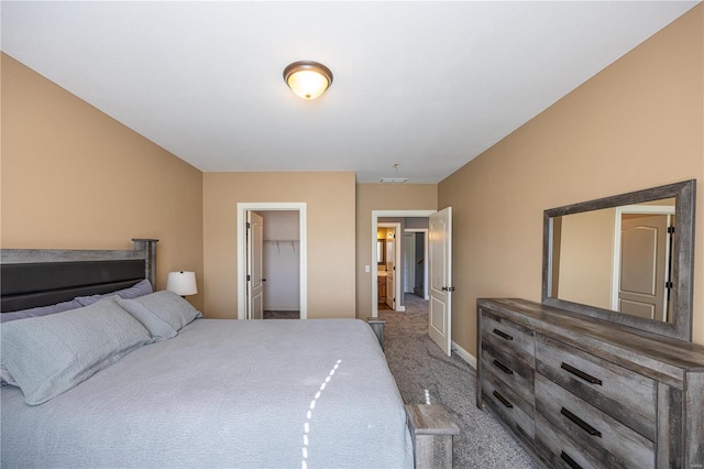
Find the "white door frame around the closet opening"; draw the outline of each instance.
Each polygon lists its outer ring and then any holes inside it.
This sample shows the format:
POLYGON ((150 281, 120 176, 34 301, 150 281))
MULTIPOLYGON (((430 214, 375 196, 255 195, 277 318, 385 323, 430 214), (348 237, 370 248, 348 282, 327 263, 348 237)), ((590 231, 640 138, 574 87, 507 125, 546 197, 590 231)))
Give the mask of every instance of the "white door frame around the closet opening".
MULTIPOLYGON (((307 204, 305 201, 280 201, 280 203, 238 203, 238 319, 246 319, 246 212, 257 210, 286 210, 298 211, 298 236, 299 247, 299 302, 300 318, 308 318, 308 234, 307 234, 307 204)), ((376 252, 374 253, 376 255, 376 252)))

